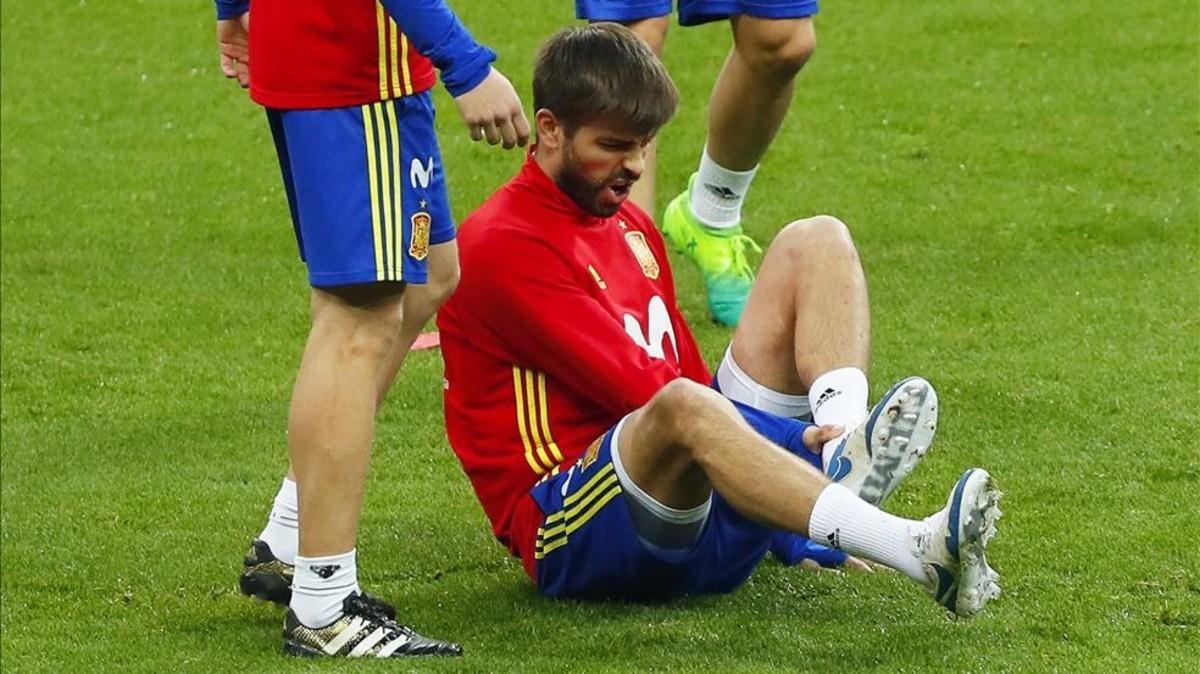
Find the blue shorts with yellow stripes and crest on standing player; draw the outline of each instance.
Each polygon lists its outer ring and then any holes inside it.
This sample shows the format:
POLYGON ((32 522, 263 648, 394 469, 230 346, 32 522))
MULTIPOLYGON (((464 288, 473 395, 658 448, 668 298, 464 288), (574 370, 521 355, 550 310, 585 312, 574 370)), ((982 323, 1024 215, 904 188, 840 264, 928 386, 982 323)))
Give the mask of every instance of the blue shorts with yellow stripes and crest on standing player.
POLYGON ((430 92, 266 118, 308 282, 425 283, 455 236, 430 92))

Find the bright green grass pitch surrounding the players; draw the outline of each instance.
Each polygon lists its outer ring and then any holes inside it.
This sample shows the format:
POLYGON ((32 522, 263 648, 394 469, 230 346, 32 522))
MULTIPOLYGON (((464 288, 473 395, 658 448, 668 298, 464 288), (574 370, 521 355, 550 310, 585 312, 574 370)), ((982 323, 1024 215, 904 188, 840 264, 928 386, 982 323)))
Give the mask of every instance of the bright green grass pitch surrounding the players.
MULTIPOLYGON (((571 2, 456 0, 528 96, 571 2)), ((262 113, 206 0, 8 0, 2 25, 4 670, 286 661, 235 578, 284 470, 306 290, 262 113)), ((763 564, 725 597, 553 603, 494 544, 415 354, 380 425, 364 583, 468 657, 422 670, 1195 672, 1200 662, 1200 2, 834 1, 748 203, 766 242, 852 228, 872 389, 940 389, 892 510, 992 471, 1004 597, 947 620, 898 574, 763 564), (1189 664, 1190 663, 1190 664, 1189 664)), ((703 144, 727 29, 674 28, 659 199, 703 144)), ((461 217, 520 155, 439 91, 461 217)), ((684 311, 715 362, 728 332, 684 311)))

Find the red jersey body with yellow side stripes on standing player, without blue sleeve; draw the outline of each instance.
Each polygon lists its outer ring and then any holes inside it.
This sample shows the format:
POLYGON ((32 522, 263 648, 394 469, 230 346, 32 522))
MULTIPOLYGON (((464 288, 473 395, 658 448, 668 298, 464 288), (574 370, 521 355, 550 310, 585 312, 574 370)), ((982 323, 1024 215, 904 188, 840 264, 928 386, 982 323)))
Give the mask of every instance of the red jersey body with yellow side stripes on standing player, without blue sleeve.
POLYGON ((377 0, 253 0, 250 96, 268 108, 342 108, 433 86, 433 64, 377 0))

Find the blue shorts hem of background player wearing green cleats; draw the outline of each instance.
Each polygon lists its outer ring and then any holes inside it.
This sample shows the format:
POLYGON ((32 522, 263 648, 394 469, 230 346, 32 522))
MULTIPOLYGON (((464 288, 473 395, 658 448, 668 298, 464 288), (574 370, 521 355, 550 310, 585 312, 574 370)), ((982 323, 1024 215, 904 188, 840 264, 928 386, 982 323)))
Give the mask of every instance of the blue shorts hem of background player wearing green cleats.
MULTIPOLYGON (((671 0, 575 0, 575 16, 590 22, 629 23, 671 13, 671 0)), ((679 0, 679 25, 700 25, 745 14, 800 19, 817 13, 817 0, 679 0)))

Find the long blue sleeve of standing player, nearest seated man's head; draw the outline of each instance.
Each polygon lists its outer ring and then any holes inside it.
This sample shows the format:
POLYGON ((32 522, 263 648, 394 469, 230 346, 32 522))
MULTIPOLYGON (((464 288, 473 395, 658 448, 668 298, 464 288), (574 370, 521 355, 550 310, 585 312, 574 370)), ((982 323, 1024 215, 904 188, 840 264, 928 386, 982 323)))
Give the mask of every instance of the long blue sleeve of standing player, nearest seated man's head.
POLYGON ((451 96, 470 91, 491 72, 496 52, 475 42, 445 0, 380 1, 416 50, 440 71, 451 96))

